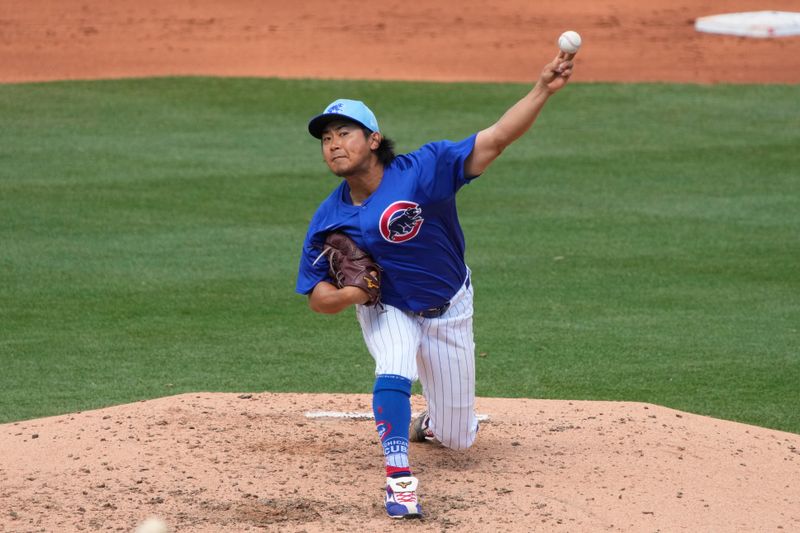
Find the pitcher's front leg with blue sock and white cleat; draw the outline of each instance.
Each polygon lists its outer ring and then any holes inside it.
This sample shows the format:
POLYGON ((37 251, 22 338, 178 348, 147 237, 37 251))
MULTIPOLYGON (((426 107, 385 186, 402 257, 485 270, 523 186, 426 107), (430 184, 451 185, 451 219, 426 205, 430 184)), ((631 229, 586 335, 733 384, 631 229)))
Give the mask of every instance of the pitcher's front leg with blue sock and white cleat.
POLYGON ((417 379, 418 322, 397 308, 357 306, 364 341, 375 359, 372 410, 386 465, 386 511, 393 518, 420 516, 417 480, 408 460, 411 384, 417 379))

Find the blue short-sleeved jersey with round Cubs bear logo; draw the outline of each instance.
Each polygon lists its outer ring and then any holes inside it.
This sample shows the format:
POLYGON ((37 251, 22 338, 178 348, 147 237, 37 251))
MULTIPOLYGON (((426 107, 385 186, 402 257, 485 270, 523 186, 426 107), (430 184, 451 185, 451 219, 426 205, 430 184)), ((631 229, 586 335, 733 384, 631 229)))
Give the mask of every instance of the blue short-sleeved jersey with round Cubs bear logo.
POLYGON ((347 181, 342 180, 311 220, 297 292, 308 294, 320 281, 331 281, 327 260, 314 261, 326 235, 338 230, 380 265, 384 303, 416 312, 448 302, 467 276, 455 196, 474 178, 464 175, 464 162, 474 146, 472 135, 397 156, 360 206, 353 205, 347 181))

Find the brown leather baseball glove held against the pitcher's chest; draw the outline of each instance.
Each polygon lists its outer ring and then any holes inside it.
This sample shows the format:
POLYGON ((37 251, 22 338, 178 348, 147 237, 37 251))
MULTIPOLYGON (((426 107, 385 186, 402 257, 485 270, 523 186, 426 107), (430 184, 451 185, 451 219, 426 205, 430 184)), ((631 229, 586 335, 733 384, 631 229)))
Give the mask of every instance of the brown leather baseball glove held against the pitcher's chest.
POLYGON ((358 287, 369 295, 364 305, 375 305, 381 299, 381 269, 353 239, 336 231, 325 239, 322 255, 328 256, 329 272, 336 286, 358 287))

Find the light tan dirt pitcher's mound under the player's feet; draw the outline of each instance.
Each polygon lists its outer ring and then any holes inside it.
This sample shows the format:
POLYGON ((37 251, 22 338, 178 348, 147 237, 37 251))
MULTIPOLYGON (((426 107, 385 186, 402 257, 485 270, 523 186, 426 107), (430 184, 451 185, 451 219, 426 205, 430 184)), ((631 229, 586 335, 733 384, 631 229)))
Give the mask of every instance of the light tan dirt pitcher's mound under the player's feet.
MULTIPOLYGON (((413 400, 422 408, 420 398, 413 400)), ((0 531, 379 531, 366 395, 184 394, 0 426, 0 531)), ((797 531, 800 436, 640 403, 478 400, 465 452, 412 444, 431 531, 797 531)))

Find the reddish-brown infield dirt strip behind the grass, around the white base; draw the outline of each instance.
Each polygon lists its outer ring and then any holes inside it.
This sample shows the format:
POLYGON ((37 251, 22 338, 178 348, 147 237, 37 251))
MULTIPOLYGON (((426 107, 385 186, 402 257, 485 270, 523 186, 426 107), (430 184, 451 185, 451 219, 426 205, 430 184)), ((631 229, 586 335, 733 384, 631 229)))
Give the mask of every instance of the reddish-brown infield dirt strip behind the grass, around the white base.
MULTIPOLYGON (((534 80, 564 30, 574 81, 800 83, 800 37, 697 33, 756 0, 4 0, 0 81, 223 75, 534 80), (7 8, 7 9, 6 9, 7 8)), ((768 9, 797 10, 795 0, 768 9)))

